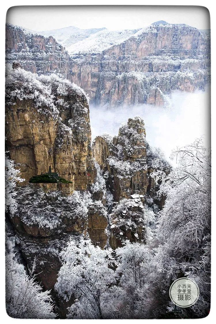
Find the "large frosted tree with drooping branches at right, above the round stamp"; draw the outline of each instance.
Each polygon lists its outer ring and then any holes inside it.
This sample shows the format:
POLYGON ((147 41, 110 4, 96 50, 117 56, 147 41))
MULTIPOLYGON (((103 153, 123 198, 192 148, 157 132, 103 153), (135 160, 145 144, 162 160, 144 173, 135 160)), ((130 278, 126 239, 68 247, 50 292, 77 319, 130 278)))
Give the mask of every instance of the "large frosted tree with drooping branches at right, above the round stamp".
POLYGON ((153 173, 161 181, 159 195, 167 196, 160 213, 158 238, 169 240, 178 258, 198 258, 203 239, 210 234, 210 154, 197 140, 175 151, 172 157, 177 167, 169 175, 153 173))

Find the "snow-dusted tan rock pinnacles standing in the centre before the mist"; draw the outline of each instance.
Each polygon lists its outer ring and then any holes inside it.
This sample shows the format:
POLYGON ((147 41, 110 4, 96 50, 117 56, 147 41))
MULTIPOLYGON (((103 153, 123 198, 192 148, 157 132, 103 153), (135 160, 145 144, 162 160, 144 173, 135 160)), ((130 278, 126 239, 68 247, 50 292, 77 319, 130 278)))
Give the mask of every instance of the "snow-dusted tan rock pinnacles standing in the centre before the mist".
POLYGON ((139 117, 129 119, 113 139, 97 136, 93 156, 103 170, 114 201, 129 199, 136 193, 156 196, 150 173, 159 168, 169 172, 171 168, 146 142, 144 122, 139 117))

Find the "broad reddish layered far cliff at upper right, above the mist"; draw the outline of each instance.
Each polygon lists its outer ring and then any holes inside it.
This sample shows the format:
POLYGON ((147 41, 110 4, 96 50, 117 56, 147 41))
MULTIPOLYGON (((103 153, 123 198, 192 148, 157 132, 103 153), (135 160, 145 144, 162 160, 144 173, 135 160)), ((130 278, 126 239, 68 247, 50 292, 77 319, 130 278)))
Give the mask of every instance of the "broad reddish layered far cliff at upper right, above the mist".
POLYGON ((187 25, 151 25, 99 54, 74 55, 70 80, 96 104, 167 104, 208 83, 209 39, 187 25))

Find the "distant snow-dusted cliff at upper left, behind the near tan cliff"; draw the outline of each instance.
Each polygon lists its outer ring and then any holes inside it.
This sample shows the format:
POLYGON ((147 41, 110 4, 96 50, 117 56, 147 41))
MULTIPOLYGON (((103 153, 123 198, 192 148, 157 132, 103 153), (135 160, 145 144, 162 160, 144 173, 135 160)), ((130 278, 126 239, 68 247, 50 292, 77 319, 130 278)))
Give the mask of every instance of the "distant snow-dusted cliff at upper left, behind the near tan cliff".
POLYGON ((67 77, 69 56, 62 45, 50 37, 6 24, 6 63, 17 60, 33 73, 57 72, 67 77))

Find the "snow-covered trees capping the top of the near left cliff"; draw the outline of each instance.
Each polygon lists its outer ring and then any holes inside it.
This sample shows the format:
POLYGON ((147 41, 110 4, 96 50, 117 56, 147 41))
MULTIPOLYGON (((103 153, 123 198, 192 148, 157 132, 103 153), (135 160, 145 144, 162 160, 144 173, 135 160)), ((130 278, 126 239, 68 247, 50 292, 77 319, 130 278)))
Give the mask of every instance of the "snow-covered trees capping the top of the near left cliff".
POLYGON ((53 116, 58 116, 56 99, 63 96, 74 95, 84 97, 88 102, 83 89, 68 80, 51 74, 49 76, 37 75, 17 69, 6 70, 6 104, 14 105, 15 100, 32 99, 36 107, 50 110, 53 116))

